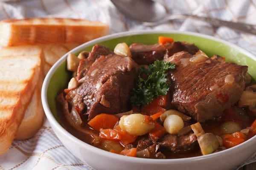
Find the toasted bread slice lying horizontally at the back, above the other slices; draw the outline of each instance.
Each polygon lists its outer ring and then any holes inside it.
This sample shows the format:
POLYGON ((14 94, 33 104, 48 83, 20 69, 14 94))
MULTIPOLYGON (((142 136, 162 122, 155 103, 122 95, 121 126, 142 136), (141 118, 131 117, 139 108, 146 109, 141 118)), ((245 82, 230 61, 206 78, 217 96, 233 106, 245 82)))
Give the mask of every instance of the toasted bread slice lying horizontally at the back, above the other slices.
POLYGON ((107 24, 68 18, 29 18, 0 22, 0 45, 78 43, 109 33, 107 24))

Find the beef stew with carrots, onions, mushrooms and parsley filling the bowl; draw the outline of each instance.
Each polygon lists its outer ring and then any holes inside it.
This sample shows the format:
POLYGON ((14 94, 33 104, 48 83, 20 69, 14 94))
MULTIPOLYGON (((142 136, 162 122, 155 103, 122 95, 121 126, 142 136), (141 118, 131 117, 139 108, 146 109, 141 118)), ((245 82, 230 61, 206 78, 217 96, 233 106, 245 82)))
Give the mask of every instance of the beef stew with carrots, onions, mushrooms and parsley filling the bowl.
POLYGON ((95 45, 77 59, 56 99, 58 116, 95 147, 175 159, 219 152, 256 135, 256 83, 247 66, 208 57, 187 42, 122 43, 114 52, 95 45))

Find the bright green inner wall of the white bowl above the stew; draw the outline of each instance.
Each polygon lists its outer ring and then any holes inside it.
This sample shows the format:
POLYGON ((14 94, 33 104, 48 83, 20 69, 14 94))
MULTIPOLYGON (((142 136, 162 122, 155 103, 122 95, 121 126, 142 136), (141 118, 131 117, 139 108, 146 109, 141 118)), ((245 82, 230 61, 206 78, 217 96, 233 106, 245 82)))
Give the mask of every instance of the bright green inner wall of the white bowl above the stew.
MULTIPOLYGON (((240 49, 236 48, 235 46, 230 46, 215 40, 209 40, 204 37, 197 37, 193 35, 185 35, 185 34, 143 34, 143 35, 132 35, 126 37, 119 37, 114 38, 112 40, 106 40, 100 42, 99 44, 105 45, 111 50, 113 50, 116 44, 121 42, 126 42, 128 45, 132 43, 143 43, 143 44, 155 44, 158 41, 159 36, 164 37, 172 37, 175 41, 186 41, 190 43, 194 43, 198 46, 199 49, 204 51, 208 56, 213 56, 215 54, 226 57, 226 61, 228 62, 235 62, 240 65, 247 65, 249 66, 248 72, 256 79, 256 61, 247 57, 245 54, 241 52, 240 49)), ((93 45, 81 49, 81 51, 91 51, 93 45)), ((76 55, 78 55, 76 53, 76 55)), ((52 114, 58 120, 57 116, 57 109, 55 105, 55 97, 57 96, 58 92, 63 90, 67 87, 67 83, 70 80, 70 72, 66 70, 66 62, 59 66, 59 68, 53 74, 47 91, 47 99, 49 108, 52 111, 52 114)))

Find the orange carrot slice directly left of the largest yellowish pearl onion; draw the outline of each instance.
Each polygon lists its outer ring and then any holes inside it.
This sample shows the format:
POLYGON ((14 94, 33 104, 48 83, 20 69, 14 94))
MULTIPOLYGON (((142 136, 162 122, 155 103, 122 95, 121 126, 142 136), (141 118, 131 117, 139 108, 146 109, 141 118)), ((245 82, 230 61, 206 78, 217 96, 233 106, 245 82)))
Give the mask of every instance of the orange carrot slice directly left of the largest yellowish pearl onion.
POLYGON ((93 129, 100 130, 102 129, 113 129, 116 125, 118 118, 111 114, 101 113, 95 116, 93 119, 88 122, 88 125, 93 127, 93 129))

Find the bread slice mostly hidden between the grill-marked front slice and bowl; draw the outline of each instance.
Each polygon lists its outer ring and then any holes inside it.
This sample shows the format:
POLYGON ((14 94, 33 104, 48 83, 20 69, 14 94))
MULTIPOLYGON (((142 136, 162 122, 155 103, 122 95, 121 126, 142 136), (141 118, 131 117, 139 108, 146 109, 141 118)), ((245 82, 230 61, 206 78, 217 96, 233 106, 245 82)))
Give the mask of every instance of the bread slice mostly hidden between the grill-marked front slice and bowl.
POLYGON ((44 123, 44 109, 41 102, 41 89, 44 77, 41 74, 38 85, 32 96, 31 102, 26 109, 24 118, 18 128, 15 139, 29 139, 37 133, 44 123))

